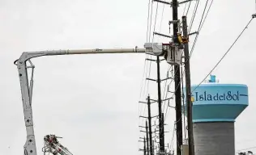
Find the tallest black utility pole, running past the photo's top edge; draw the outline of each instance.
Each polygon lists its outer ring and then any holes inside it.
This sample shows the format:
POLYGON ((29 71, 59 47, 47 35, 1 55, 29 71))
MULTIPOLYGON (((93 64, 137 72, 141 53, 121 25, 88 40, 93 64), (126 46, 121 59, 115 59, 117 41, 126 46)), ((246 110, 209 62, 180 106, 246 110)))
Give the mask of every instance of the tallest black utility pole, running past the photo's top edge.
MULTIPOLYGON (((177 31, 177 0, 173 0, 173 42, 178 44, 177 31)), ((181 145, 182 145, 182 113, 181 113, 181 73, 180 66, 174 65, 174 82, 175 82, 175 107, 176 107, 176 138, 177 138, 177 155, 181 155, 181 145)))

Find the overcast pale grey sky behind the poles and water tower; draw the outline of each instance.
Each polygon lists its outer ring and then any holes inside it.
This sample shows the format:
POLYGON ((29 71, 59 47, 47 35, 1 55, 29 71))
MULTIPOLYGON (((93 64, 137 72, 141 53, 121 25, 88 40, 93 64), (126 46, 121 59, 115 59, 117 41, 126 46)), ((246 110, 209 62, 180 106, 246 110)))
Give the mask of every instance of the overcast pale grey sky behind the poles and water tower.
MULTIPOLYGON (((205 2, 200 1, 191 31, 198 27, 205 2)), ((26 140, 19 77, 13 61, 23 51, 143 47, 147 3, 147 0, 0 1, 1 154, 23 153, 26 140)), ((194 4, 191 4, 188 22, 194 4)), ((156 31, 169 34, 171 9, 164 7, 160 29, 162 7, 159 5, 156 31)), ((183 7, 181 5, 179 15, 183 7)), ((153 16, 155 8, 156 3, 153 16)), ((201 82, 253 13, 254 0, 213 2, 191 58, 192 84, 201 82)), ((256 21, 253 21, 214 71, 220 82, 249 86, 250 106, 236 122, 237 149, 256 146, 255 27, 256 21)), ((169 40, 156 37, 155 41, 169 40)), ((143 107, 139 107, 138 101, 144 58, 144 54, 130 54, 33 59, 36 70, 32 107, 37 153, 42 154, 43 136, 53 133, 63 136, 62 144, 74 154, 141 154, 138 125, 142 123, 139 113, 143 107)), ((162 64, 163 77, 168 66, 162 64)), ((155 78, 156 65, 152 64, 151 69, 151 78, 155 78)), ((149 93, 156 98, 156 83, 150 83, 149 93)), ((168 115, 166 130, 170 132, 166 143, 171 140, 174 111, 169 110, 168 115)))

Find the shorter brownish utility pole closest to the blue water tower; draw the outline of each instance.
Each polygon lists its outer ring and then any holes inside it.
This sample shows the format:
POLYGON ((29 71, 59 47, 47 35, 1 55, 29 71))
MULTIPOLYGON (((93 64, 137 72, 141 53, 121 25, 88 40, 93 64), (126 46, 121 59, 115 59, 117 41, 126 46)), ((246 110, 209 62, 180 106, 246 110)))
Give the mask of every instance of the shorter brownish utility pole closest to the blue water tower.
MULTIPOLYGON (((182 16, 183 36, 188 38, 186 16, 182 16)), ((186 107, 187 107, 187 121, 188 121, 188 138, 189 138, 189 154, 194 155, 194 133, 192 122, 192 101, 190 88, 190 53, 189 44, 186 43, 184 47, 185 55, 185 74, 186 74, 186 107)))

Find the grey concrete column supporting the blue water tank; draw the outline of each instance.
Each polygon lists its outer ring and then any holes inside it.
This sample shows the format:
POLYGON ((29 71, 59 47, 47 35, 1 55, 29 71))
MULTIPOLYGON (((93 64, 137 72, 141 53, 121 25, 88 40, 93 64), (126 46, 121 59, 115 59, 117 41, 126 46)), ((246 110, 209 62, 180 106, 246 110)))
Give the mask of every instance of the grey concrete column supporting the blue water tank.
POLYGON ((234 155, 234 122, 194 123, 195 155, 234 155))

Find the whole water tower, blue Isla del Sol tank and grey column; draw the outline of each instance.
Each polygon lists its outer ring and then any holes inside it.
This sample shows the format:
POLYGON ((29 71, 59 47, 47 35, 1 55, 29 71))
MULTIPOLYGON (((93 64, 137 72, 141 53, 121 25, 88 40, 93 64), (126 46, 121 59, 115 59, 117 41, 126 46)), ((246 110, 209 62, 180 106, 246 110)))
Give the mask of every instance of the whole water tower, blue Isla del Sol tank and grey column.
POLYGON ((195 154, 234 155, 234 122, 248 106, 247 86, 221 84, 211 75, 206 83, 191 86, 191 91, 195 154))

